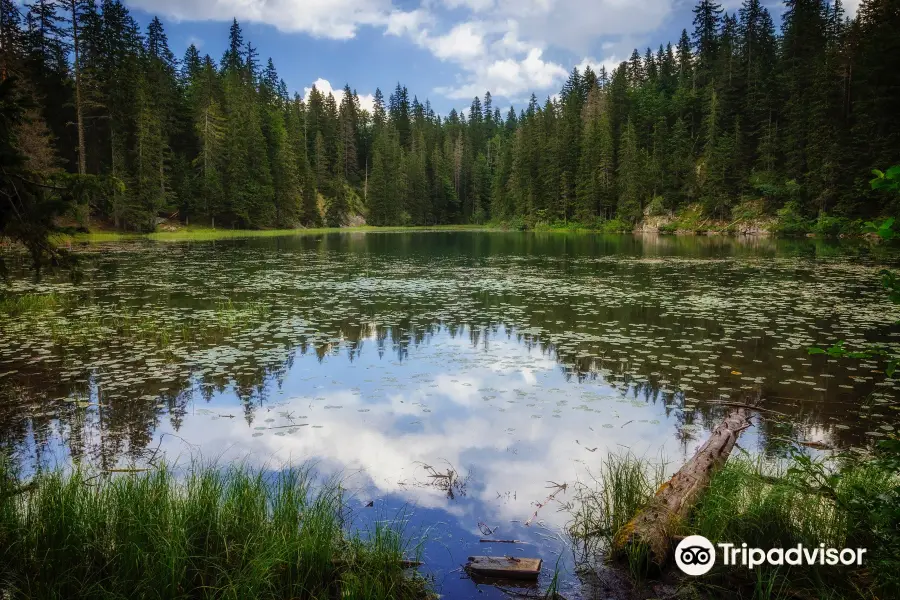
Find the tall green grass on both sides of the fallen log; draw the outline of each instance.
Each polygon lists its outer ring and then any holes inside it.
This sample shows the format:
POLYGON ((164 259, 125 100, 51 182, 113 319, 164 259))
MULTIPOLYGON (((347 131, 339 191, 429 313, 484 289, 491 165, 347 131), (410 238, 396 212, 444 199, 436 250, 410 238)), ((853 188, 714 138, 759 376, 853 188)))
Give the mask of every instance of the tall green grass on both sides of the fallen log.
MULTIPOLYGON (((762 566, 753 571, 717 563, 686 583, 694 597, 894 598, 900 597, 900 473, 871 458, 790 460, 732 456, 716 472, 691 520, 673 535, 702 535, 713 544, 751 548, 867 548, 857 566, 762 566)), ((608 555, 615 533, 655 493, 658 463, 610 455, 594 481, 581 486, 569 532, 585 561, 608 555)), ((635 579, 645 565, 626 555, 635 579), (632 564, 634 563, 634 564, 632 564)))

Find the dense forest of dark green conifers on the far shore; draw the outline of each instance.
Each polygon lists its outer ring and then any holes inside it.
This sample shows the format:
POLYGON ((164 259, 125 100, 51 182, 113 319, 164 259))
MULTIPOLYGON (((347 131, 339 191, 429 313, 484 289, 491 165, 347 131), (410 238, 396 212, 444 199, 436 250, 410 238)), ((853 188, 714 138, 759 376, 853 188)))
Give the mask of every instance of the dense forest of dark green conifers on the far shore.
POLYGON ((867 181, 900 158, 900 0, 863 0, 854 18, 840 0, 779 13, 777 28, 760 0, 735 14, 701 0, 674 45, 573 69, 518 110, 488 92, 441 116, 400 84, 376 90, 371 114, 350 86, 339 101, 291 95, 236 21, 218 59, 193 45, 178 59, 162 23, 142 31, 119 0, 0 0, 0 79, 18 115, 0 154, 15 157, 6 175, 116 182, 69 216, 140 231, 356 214, 628 224, 686 206, 730 219, 747 201, 807 218, 893 211, 867 181))

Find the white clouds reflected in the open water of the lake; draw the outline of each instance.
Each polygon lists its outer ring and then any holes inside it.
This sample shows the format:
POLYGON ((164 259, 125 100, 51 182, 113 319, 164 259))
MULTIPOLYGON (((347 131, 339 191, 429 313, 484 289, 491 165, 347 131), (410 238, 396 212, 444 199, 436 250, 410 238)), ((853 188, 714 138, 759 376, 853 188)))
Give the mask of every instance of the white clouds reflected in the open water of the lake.
MULTIPOLYGON (((451 361, 447 370, 435 373, 433 382, 416 383, 411 378, 402 388, 384 396, 363 396, 348 389, 349 383, 334 382, 330 389, 316 388, 308 396, 287 397, 270 404, 271 412, 264 414, 276 419, 275 426, 288 424, 284 415, 308 424, 296 433, 261 432, 240 418, 198 414, 185 419, 177 436, 163 436, 175 433, 164 423, 157 433, 161 451, 168 460, 177 462, 179 455, 184 456, 186 444, 191 444, 200 448, 203 456, 218 457, 222 464, 246 462, 266 468, 277 468, 282 461, 293 460, 296 465, 308 460, 323 478, 341 477, 351 494, 375 499, 397 495, 418 508, 440 508, 455 521, 472 527, 473 533, 477 533, 474 526, 479 520, 491 525, 503 523, 510 537, 528 541, 542 529, 526 527, 522 521, 534 513, 534 503, 544 501, 550 493, 548 481, 571 485, 587 480, 586 469, 596 465, 597 457, 623 447, 648 457, 662 451, 672 459, 668 467, 671 472, 681 464, 679 459, 689 457, 700 443, 682 446, 674 436, 661 436, 660 428, 650 419, 664 420, 664 406, 634 405, 608 388, 602 399, 592 401, 596 402, 592 404, 596 412, 551 412, 555 406, 545 402, 553 396, 544 387, 544 377, 558 371, 556 361, 541 354, 522 370, 510 361, 521 356, 513 340, 492 340, 491 354, 496 360, 489 362, 471 360, 481 350, 473 349, 468 339, 443 341, 442 347, 444 350, 430 359, 446 356, 445 352, 470 354, 465 363, 451 361), (498 367, 502 363, 508 366, 498 367), (497 397, 484 398, 480 388, 497 390, 497 397), (522 407, 518 393, 523 389, 541 394, 530 410, 522 407), (326 410, 327 406, 340 408, 326 410), (425 408, 429 412, 423 411, 425 408), (416 427, 411 427, 414 419, 416 427), (603 423, 614 426, 601 429, 603 423), (586 447, 597 449, 590 452, 586 447), (510 448, 516 452, 510 452, 510 448), (427 485, 428 473, 422 465, 446 468, 449 463, 465 476, 475 455, 475 483, 468 490, 474 506, 448 503, 445 493, 427 485), (515 493, 498 502, 497 494, 507 491, 515 493), (481 514, 471 514, 473 509, 481 514), (515 523, 511 523, 513 520, 515 523)), ((369 360, 369 355, 364 353, 362 360, 369 360)), ((378 369, 374 373, 391 368, 377 361, 368 363, 368 368, 372 367, 378 369)), ((352 380, 359 375, 349 377, 352 380)), ((322 381, 331 378, 323 376, 322 381)), ((226 392, 214 400, 214 405, 224 407, 235 400, 226 392)), ((253 425, 265 426, 263 418, 261 412, 257 413, 258 421, 253 425)), ((570 498, 561 496, 560 500, 570 498)), ((538 519, 551 529, 561 529, 570 514, 552 505, 542 509, 538 519)))

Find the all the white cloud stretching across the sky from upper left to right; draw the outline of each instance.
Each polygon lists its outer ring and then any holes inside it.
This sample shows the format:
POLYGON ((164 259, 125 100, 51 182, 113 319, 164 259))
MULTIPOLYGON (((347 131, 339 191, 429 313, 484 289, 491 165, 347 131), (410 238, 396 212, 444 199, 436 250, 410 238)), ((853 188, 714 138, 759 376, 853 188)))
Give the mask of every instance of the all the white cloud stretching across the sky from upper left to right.
POLYGON ((458 65, 456 81, 436 88, 437 92, 471 98, 490 90, 515 100, 532 91, 555 91, 550 88, 571 69, 545 58, 548 49, 584 56, 584 64, 609 67, 611 57, 630 53, 625 46, 658 31, 675 6, 672 0, 418 0, 417 7, 404 4, 403 9, 399 0, 129 0, 129 4, 174 19, 236 17, 332 39, 353 38, 360 27, 376 27, 458 65), (597 42, 603 41, 605 56, 591 57, 597 42))

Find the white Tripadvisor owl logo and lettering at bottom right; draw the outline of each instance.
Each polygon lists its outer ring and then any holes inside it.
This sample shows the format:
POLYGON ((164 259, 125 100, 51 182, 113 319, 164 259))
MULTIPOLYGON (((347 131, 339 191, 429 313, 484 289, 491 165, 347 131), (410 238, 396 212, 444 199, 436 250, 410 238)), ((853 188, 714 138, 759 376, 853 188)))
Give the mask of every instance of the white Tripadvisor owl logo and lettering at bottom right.
MULTIPOLYGON (((722 552, 722 564, 753 569, 760 565, 862 565, 865 548, 807 548, 797 544, 792 548, 748 548, 747 544, 716 544, 722 552)), ((702 535, 691 535, 675 548, 675 563, 688 575, 703 575, 716 563, 716 549, 702 535)))

